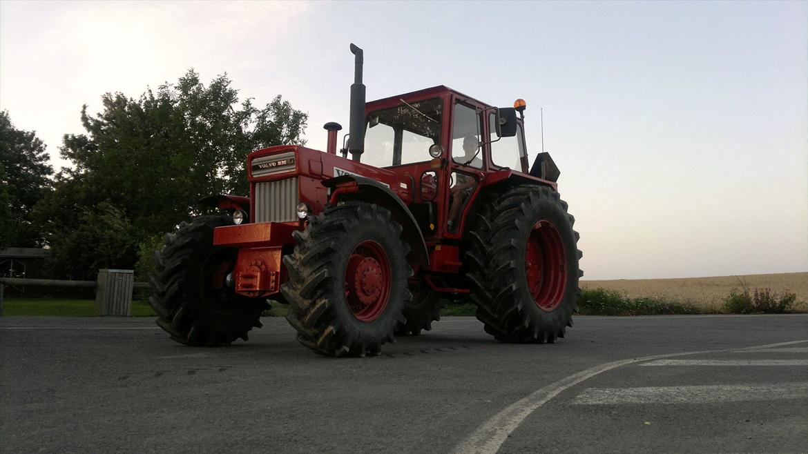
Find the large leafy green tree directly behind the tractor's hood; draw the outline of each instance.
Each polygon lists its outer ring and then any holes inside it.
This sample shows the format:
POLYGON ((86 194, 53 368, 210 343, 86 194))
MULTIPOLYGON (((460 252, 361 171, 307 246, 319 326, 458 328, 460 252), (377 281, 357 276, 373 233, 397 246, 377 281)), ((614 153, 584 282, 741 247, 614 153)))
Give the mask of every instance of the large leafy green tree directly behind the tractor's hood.
POLYGON ((146 238, 198 214, 198 200, 245 195, 250 151, 305 144, 305 112, 280 95, 260 109, 253 99, 241 101, 226 74, 205 86, 191 69, 138 99, 107 93, 101 100, 103 110, 95 116, 82 107, 85 134, 65 135, 61 156, 74 167, 57 175, 53 194, 37 205, 34 217, 54 242, 78 227, 83 210, 101 203, 118 208, 131 223, 133 247, 124 248, 131 262, 146 238))

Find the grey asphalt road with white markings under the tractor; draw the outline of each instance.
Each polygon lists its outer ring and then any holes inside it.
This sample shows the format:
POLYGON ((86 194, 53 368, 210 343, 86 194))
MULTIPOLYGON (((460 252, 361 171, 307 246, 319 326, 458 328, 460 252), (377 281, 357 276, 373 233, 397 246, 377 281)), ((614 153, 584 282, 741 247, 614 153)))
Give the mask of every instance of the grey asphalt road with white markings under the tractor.
POLYGON ((3 452, 808 452, 808 315, 447 317, 364 359, 184 347, 151 318, 0 318, 3 452), (650 356, 657 356, 649 358, 650 356))

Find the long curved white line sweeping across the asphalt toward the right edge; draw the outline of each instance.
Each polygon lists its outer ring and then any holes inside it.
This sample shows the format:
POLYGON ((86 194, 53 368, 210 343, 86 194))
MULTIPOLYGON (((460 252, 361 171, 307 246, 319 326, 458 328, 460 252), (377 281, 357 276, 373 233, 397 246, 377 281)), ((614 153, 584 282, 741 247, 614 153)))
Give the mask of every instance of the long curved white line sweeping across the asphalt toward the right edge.
MULTIPOLYGON (((808 340, 799 340, 783 343, 770 343, 749 348, 768 348, 768 347, 783 347, 786 345, 793 345, 795 343, 806 343, 808 340)), ((701 353, 718 353, 726 352, 728 350, 706 350, 706 351, 688 351, 683 353, 670 353, 667 355, 653 355, 644 358, 623 359, 621 361, 613 361, 612 363, 600 364, 594 368, 588 368, 582 372, 574 375, 567 376, 558 380, 551 385, 538 389, 530 393, 527 397, 507 406, 504 410, 495 414, 492 418, 483 422, 475 431, 471 433, 465 440, 458 443, 452 452, 456 454, 494 454, 499 451, 511 432, 516 430, 516 427, 524 421, 532 412, 536 411, 539 407, 543 406, 547 401, 553 397, 558 396, 562 391, 569 389, 571 386, 578 385, 584 380, 588 380, 603 372, 608 372, 613 368, 619 368, 626 364, 634 364, 642 361, 649 361, 651 359, 668 358, 671 356, 684 356, 684 355, 699 355, 701 353)))

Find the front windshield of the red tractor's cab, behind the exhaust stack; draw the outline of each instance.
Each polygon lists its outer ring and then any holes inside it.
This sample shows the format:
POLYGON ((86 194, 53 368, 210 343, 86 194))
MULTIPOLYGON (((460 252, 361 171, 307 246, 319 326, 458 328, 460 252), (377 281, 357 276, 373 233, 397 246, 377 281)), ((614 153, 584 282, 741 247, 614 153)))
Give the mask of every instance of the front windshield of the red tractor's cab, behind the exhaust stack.
POLYGON ((368 115, 362 162, 389 167, 429 161, 429 146, 440 143, 443 99, 402 103, 368 115))

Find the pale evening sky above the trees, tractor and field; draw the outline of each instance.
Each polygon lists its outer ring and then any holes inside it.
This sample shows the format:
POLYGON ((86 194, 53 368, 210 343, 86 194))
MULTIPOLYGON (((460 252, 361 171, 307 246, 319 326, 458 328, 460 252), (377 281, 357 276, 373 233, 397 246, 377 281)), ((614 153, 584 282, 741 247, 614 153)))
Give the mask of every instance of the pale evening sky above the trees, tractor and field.
POLYGON ((0 109, 53 165, 82 104, 187 69, 347 129, 368 100, 446 85, 528 103, 581 234, 584 279, 808 271, 808 2, 0 1, 0 109))

